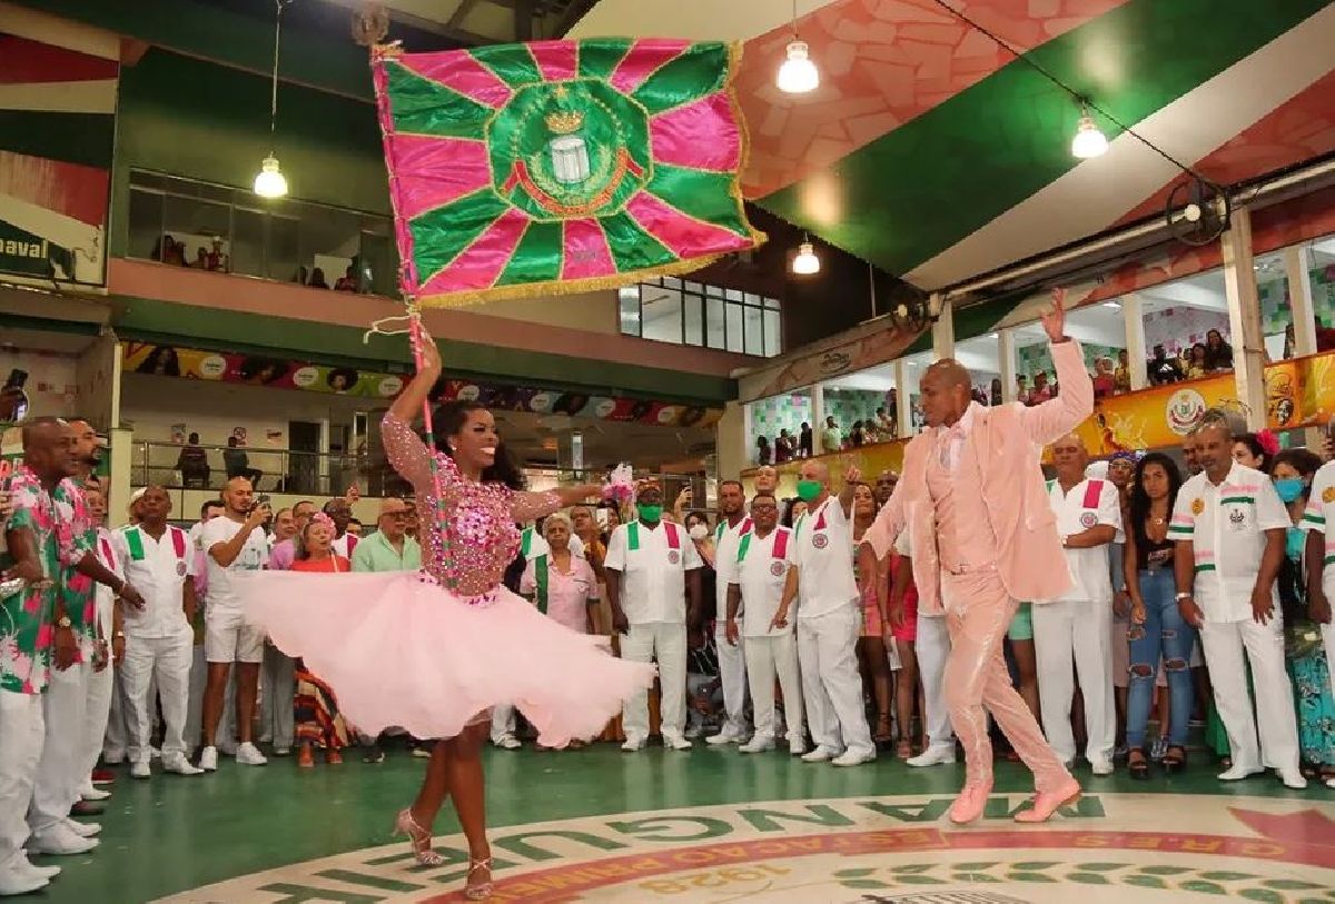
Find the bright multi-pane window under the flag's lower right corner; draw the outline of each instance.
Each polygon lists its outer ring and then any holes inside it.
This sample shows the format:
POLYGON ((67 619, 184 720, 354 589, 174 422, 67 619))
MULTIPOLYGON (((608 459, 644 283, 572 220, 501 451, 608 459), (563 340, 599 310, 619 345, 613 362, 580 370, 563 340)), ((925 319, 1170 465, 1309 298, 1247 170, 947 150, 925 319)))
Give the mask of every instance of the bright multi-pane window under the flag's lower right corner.
POLYGON ((758 357, 784 351, 777 299, 663 276, 619 289, 619 308, 627 336, 758 357))

